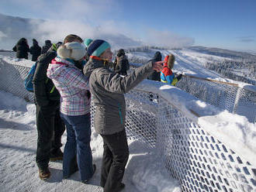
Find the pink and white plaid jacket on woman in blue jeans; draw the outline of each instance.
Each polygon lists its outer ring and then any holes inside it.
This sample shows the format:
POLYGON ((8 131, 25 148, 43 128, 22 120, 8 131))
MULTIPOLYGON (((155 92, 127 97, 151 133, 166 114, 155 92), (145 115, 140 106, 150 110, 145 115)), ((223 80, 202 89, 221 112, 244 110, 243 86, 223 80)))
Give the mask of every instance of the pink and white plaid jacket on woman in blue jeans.
POLYGON ((72 60, 56 57, 49 64, 47 77, 52 79, 61 94, 61 113, 74 116, 90 112, 88 78, 74 66, 72 60))

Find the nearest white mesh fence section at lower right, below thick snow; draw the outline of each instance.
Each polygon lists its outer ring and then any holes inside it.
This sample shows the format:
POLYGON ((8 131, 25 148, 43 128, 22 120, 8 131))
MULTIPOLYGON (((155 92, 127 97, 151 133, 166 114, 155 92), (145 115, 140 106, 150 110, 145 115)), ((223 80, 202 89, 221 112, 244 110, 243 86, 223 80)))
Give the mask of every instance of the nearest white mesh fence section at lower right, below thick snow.
POLYGON ((157 146, 183 191, 256 191, 256 167, 164 98, 159 101, 157 146))

